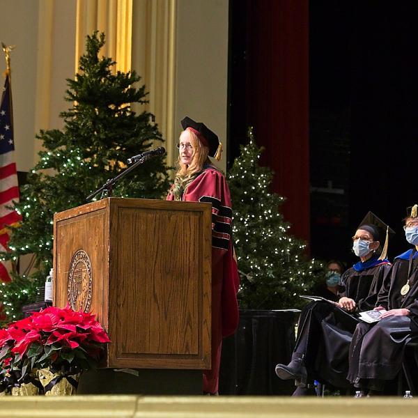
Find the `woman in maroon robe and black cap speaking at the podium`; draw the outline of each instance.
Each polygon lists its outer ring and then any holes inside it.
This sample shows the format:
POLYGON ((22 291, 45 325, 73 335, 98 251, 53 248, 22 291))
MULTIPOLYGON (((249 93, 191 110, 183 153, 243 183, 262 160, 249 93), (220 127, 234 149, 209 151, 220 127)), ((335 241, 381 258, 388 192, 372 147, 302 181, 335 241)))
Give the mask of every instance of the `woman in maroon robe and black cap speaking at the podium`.
POLYGON ((188 116, 181 125, 178 171, 167 200, 212 204, 212 369, 203 371, 203 392, 218 394, 222 337, 233 334, 238 326, 231 196, 224 175, 209 160, 221 157, 217 135, 188 116))

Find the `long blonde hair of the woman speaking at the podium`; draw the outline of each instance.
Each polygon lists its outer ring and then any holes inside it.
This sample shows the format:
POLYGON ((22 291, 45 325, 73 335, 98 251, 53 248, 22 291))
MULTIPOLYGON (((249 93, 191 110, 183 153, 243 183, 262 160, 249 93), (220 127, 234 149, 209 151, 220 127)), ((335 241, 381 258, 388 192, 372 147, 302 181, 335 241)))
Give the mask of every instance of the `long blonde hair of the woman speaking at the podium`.
POLYGON ((174 178, 174 184, 171 188, 176 200, 180 200, 187 185, 194 180, 194 178, 202 171, 205 164, 210 164, 208 158, 209 148, 204 146, 199 140, 199 137, 191 130, 184 130, 180 134, 179 140, 185 138, 189 139, 193 148, 192 162, 187 165, 181 162, 180 154, 178 155, 178 170, 174 178))

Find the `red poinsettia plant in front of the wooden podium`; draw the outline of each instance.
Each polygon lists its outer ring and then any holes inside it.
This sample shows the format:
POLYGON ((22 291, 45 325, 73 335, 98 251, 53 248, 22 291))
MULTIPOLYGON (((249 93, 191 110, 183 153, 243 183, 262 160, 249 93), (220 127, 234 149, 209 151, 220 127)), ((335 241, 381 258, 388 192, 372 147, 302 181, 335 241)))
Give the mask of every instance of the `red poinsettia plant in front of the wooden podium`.
POLYGON ((48 307, 0 330, 0 374, 22 381, 35 368, 86 371, 109 342, 93 314, 48 307))

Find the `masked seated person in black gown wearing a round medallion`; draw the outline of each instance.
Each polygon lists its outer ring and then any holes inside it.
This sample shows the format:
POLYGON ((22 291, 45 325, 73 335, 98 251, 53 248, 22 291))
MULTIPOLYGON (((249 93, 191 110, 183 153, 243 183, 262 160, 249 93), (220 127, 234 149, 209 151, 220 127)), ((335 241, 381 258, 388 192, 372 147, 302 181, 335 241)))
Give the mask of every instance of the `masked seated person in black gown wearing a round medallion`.
POLYGON ((386 309, 378 323, 359 323, 350 346, 348 380, 378 393, 401 371, 405 344, 418 337, 418 206, 408 208, 405 238, 412 249, 397 256, 378 295, 376 309, 386 309))

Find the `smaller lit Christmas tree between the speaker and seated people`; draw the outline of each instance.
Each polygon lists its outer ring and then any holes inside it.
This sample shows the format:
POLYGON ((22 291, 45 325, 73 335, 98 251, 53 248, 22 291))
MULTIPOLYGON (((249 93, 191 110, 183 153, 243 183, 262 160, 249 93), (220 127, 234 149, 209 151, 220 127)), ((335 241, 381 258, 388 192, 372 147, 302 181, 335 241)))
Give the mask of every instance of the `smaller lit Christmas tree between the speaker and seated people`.
POLYGON ((306 244, 288 234, 290 224, 279 212, 285 199, 270 192, 273 173, 260 167, 250 128, 229 171, 233 203, 233 239, 240 271, 241 309, 286 309, 303 304, 299 295, 324 280, 321 263, 304 255, 306 244))

